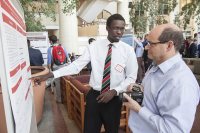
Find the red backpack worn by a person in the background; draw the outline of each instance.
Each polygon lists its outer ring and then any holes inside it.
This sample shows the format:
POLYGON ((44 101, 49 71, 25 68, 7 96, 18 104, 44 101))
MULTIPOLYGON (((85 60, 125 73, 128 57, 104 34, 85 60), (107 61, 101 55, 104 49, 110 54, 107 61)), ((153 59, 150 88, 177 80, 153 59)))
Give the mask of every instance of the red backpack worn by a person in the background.
POLYGON ((63 65, 66 63, 66 55, 62 46, 53 46, 52 50, 53 62, 56 65, 63 65))

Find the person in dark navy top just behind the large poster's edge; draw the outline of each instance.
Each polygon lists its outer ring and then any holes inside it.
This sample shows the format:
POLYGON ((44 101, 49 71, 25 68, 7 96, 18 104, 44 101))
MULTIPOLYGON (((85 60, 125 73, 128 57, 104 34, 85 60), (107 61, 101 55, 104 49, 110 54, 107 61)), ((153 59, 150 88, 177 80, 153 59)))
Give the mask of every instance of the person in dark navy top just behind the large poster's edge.
POLYGON ((29 59, 31 66, 42 66, 44 64, 44 59, 42 53, 39 49, 31 48, 30 40, 27 40, 29 59))

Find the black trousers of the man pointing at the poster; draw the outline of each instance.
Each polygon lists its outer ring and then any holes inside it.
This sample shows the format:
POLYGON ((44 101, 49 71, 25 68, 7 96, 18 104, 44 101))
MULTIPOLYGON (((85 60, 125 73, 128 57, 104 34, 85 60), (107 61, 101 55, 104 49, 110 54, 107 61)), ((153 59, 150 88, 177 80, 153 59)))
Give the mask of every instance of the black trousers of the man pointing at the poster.
POLYGON ((99 95, 91 89, 86 96, 84 133, 100 133, 102 124, 105 133, 118 133, 122 101, 115 96, 108 103, 98 103, 99 95))

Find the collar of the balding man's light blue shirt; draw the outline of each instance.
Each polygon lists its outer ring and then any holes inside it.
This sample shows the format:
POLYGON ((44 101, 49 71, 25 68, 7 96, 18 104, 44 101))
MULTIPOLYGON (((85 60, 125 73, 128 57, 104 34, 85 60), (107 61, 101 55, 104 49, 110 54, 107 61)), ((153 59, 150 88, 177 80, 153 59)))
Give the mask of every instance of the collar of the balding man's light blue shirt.
POLYGON ((180 60, 181 60, 181 55, 177 53, 175 56, 171 57, 170 59, 158 65, 158 67, 163 73, 166 73, 174 64, 176 64, 180 60))

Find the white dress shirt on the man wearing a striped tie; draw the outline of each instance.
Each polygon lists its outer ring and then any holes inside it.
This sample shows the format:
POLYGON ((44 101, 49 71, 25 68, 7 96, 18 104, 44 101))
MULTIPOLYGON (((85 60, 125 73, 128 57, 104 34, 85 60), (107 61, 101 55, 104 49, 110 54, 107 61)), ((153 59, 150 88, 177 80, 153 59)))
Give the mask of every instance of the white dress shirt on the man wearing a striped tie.
MULTIPOLYGON (((77 74, 91 61, 92 72, 89 84, 94 90, 100 91, 109 44, 107 39, 95 41, 77 60, 54 71, 54 77, 77 74)), ((126 90, 130 83, 135 82, 138 65, 134 49, 131 46, 121 41, 112 44, 110 88, 115 89, 118 94, 126 90)))

